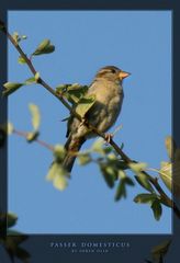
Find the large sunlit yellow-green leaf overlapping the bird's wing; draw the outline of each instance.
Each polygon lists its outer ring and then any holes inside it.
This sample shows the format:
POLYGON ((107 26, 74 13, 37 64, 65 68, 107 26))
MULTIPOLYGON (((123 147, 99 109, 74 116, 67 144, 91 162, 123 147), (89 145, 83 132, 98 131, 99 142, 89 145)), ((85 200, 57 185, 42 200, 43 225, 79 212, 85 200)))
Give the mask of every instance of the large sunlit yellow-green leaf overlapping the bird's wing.
POLYGON ((78 105, 76 107, 76 112, 81 116, 85 117, 86 113, 92 107, 95 102, 94 95, 85 95, 82 99, 79 100, 78 105))

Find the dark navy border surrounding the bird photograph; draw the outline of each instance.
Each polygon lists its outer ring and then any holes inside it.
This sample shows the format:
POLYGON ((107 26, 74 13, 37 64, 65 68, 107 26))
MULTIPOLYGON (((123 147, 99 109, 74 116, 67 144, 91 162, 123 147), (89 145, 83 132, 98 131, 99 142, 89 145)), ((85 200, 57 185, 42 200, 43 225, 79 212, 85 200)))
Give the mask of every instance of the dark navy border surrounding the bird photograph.
MULTIPOLYGON (((178 0, 111 0, 111 2, 104 2, 102 0, 88 1, 82 0, 57 0, 52 1, 31 1, 24 0, 7 0, 1 3, 0 18, 7 23, 8 10, 157 10, 172 11, 172 134, 178 146, 180 146, 180 125, 178 123, 179 116, 179 61, 180 61, 180 35, 178 34, 178 26, 180 24, 180 9, 178 7, 178 0)), ((0 60, 3 61, 3 67, 0 72, 0 89, 7 81, 7 38, 0 33, 1 46, 0 60)), ((0 98, 0 123, 7 121, 8 101, 0 98)), ((0 183, 0 209, 7 213, 7 142, 5 147, 0 150, 0 167, 1 167, 1 183, 0 183)), ((178 199, 176 199, 179 203, 178 199)), ((180 224, 177 217, 173 215, 173 233, 172 235, 32 235, 29 236, 27 241, 24 242, 25 249, 30 251, 32 259, 30 262, 60 262, 70 263, 72 261, 85 262, 92 260, 94 262, 142 262, 142 253, 147 251, 147 258, 150 254, 150 250, 159 242, 172 239, 170 251, 168 252, 165 262, 177 263, 178 256, 178 233, 180 232, 180 224), (76 253, 72 254, 68 249, 52 248, 52 242, 128 242, 128 249, 111 249, 109 254, 105 253, 76 253)), ((1 255, 0 255, 1 259, 1 255)), ((8 261, 7 261, 8 262, 8 261)), ((145 262, 145 261, 143 261, 145 262)))

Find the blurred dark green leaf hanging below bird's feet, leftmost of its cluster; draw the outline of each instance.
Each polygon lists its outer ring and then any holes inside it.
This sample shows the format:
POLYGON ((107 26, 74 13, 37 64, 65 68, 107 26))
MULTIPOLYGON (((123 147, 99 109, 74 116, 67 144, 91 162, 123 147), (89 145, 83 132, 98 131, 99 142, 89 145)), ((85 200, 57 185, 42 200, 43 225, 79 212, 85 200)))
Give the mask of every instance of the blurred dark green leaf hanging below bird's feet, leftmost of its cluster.
POLYGON ((114 186, 114 181, 116 180, 116 171, 114 171, 114 169, 106 163, 99 164, 106 184, 112 188, 114 186))

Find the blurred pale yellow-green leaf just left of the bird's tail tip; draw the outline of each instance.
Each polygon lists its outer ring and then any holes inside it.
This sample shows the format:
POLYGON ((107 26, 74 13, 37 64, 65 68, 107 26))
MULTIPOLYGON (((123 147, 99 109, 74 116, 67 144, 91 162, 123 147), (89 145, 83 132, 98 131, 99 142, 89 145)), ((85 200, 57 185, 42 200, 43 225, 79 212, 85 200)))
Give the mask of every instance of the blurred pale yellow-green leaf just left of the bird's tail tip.
POLYGON ((68 186, 67 176, 69 176, 69 174, 61 167, 61 164, 54 162, 48 171, 46 179, 48 181, 53 181, 54 187, 64 191, 68 186))

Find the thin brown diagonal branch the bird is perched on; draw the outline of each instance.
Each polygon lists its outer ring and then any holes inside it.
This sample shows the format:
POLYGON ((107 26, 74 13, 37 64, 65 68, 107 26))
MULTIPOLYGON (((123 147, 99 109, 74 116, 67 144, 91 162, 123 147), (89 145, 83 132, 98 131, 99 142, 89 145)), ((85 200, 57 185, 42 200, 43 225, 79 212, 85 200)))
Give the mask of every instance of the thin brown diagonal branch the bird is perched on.
MULTIPOLYGON (((25 60, 26 65, 29 66, 31 72, 35 76, 36 75, 36 69, 34 68, 31 59, 27 58, 27 56, 24 54, 20 45, 13 39, 13 37, 9 34, 9 32, 5 28, 5 25, 3 22, 0 21, 0 28, 1 31, 7 35, 9 41, 12 43, 12 45, 16 48, 19 54, 22 56, 22 58, 25 60)), ((48 92, 50 92, 55 98, 57 98, 72 114, 76 116, 79 121, 82 121, 81 116, 75 112, 75 110, 69 105, 69 103, 63 98, 63 95, 59 95, 56 93, 56 91, 49 87, 42 78, 37 80, 40 84, 42 84, 48 92)), ((93 127, 88 121, 83 123, 83 125, 88 126, 94 134, 99 135, 103 139, 106 140, 105 134, 99 132, 95 127, 93 127)), ((36 140, 37 141, 37 140, 36 140)), ((40 140, 37 141, 40 142, 40 140)), ((41 142, 42 144, 42 142, 41 142)), ((128 164, 132 162, 136 162, 132 160, 128 156, 125 155, 125 152, 115 144, 115 141, 111 138, 109 144, 114 148, 114 150, 121 156, 121 158, 128 164)), ((176 203, 169 198, 169 196, 165 193, 165 191, 161 188, 161 186, 158 183, 158 180, 149 175, 147 172, 144 171, 144 174, 146 174, 150 181, 150 183, 154 185, 154 187, 157 190, 159 193, 160 197, 162 201, 173 209, 175 214, 180 218, 180 210, 177 207, 176 203)))

